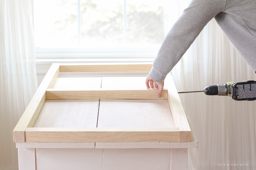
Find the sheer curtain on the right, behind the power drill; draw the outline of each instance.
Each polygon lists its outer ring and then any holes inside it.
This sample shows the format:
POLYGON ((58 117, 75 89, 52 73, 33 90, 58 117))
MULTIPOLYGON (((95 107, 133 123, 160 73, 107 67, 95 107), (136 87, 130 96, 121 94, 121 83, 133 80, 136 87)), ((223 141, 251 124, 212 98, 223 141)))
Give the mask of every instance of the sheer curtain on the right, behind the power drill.
MULTIPOLYGON (((187 6, 189 2, 177 1, 177 4, 174 15, 177 12, 180 15, 184 4, 187 6)), ((232 47, 214 19, 205 26, 171 74, 178 91, 256 80, 254 71, 232 47)), ((198 148, 188 151, 189 170, 256 169, 255 101, 235 101, 231 97, 204 93, 180 94, 180 99, 198 140, 198 148)))

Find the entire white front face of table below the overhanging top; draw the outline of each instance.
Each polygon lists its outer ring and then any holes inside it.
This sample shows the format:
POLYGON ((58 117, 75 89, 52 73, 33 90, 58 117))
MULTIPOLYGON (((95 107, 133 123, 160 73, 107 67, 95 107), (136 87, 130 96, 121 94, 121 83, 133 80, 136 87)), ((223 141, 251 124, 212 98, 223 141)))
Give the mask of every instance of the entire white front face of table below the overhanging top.
POLYGON ((187 170, 183 149, 19 148, 19 170, 187 170))

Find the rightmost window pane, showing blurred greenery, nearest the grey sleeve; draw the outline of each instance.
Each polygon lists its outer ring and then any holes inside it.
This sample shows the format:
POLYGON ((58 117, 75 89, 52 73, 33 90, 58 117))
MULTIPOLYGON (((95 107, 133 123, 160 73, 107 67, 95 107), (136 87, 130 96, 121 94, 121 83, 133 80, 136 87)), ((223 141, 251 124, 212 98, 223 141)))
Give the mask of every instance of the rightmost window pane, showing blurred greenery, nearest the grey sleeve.
POLYGON ((164 40, 164 10, 160 0, 126 0, 127 43, 161 44, 164 40))

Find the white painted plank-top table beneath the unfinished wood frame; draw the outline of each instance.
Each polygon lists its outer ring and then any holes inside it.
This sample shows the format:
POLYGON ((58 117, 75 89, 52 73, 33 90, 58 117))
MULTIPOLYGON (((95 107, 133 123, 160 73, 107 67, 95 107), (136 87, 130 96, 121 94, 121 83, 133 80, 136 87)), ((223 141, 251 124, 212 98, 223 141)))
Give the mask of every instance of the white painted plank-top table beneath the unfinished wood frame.
MULTIPOLYGON (((145 77, 57 78, 53 89, 145 86, 145 77), (88 83, 89 82, 89 83, 88 83)), ((33 127, 175 127, 167 99, 46 100, 33 127), (111 113, 111 114, 109 114, 111 113)), ((191 142, 17 142, 19 170, 185 170, 191 142)))

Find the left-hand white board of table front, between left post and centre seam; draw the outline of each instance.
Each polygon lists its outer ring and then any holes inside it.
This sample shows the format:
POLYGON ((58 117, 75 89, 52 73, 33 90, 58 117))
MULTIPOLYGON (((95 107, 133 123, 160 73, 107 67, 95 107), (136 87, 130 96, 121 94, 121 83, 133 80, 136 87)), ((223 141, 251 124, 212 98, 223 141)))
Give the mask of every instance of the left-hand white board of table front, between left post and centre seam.
POLYGON ((102 170, 102 149, 36 149, 37 170, 102 170))

